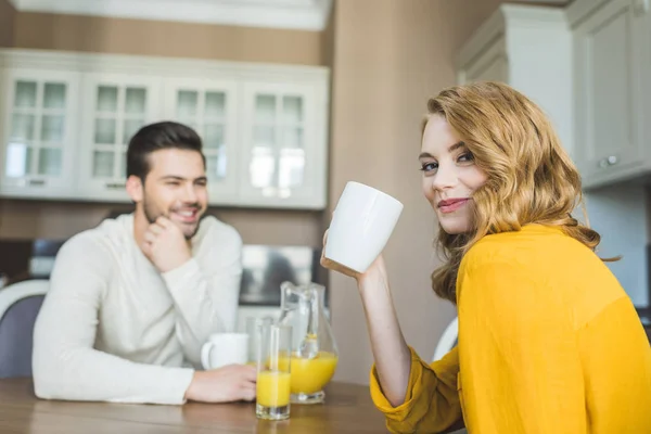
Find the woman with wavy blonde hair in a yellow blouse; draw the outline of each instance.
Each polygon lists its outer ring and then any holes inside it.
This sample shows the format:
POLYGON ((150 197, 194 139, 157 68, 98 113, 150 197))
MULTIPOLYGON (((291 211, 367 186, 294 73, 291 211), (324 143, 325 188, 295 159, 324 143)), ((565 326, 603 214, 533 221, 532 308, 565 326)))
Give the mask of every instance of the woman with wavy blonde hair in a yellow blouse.
POLYGON ((483 82, 429 102, 420 165, 447 261, 434 292, 455 303, 459 345, 427 363, 408 347, 382 257, 359 286, 392 432, 651 433, 651 348, 626 293, 571 213, 579 175, 549 120, 483 82))

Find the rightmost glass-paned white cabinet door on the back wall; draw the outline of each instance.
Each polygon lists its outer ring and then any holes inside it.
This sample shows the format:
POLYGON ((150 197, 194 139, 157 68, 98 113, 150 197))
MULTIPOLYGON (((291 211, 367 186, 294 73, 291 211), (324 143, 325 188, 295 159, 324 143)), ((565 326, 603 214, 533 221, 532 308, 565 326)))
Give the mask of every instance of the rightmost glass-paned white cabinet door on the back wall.
POLYGON ((240 201, 251 206, 326 205, 326 101, 312 85, 244 86, 240 201))

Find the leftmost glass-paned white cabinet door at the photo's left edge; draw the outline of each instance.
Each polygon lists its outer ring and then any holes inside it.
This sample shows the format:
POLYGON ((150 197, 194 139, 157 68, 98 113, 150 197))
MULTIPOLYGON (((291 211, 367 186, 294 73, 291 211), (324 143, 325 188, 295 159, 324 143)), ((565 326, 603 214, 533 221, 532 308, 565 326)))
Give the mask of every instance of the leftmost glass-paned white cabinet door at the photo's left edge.
POLYGON ((52 199, 71 195, 78 82, 75 73, 5 72, 2 194, 52 199))

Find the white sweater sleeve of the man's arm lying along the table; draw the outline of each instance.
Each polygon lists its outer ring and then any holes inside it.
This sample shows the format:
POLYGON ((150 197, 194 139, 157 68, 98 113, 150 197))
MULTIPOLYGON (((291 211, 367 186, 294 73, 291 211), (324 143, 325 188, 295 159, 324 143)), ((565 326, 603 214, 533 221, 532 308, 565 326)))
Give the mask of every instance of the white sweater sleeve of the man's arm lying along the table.
POLYGON ((56 256, 34 331, 35 393, 43 399, 183 404, 193 370, 136 363, 93 348, 111 258, 86 234, 56 256))

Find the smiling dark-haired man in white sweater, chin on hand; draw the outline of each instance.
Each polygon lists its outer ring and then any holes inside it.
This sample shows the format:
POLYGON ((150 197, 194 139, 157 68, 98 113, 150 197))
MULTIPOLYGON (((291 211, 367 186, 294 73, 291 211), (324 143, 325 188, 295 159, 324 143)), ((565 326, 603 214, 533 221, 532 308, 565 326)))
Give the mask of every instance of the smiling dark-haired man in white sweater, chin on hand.
POLYGON ((208 335, 235 323, 242 241, 207 206, 192 129, 143 127, 127 151, 136 210, 68 240, 34 333, 46 399, 182 404, 255 398, 255 369, 195 371, 208 335))

